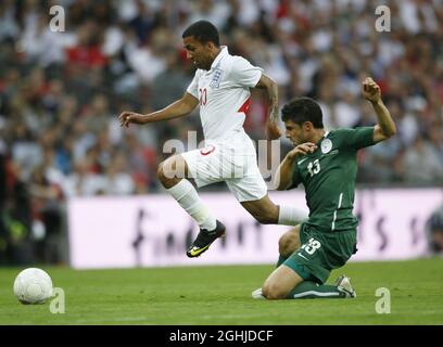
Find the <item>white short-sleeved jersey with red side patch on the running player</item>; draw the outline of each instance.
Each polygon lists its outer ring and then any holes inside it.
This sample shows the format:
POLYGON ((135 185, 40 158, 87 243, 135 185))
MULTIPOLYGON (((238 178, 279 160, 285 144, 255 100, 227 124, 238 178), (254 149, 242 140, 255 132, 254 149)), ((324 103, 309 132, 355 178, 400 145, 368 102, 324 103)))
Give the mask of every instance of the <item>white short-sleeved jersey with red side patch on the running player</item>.
POLYGON ((187 92, 200 101, 200 118, 206 140, 221 140, 244 132, 250 88, 257 85, 262 72, 244 57, 230 55, 225 46, 210 70, 195 72, 187 92))

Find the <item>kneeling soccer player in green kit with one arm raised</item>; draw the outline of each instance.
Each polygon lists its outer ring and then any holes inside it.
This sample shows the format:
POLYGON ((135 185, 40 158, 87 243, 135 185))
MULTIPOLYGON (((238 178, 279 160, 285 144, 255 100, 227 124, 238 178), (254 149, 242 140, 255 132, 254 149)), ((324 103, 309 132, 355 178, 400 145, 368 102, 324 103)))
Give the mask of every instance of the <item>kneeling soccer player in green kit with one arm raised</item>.
POLYGON ((395 124, 381 100, 380 87, 363 82, 363 95, 377 114, 374 127, 324 129, 321 108, 309 98, 296 98, 282 108, 286 136, 295 147, 281 162, 277 189, 303 183, 309 218, 283 234, 277 268, 254 298, 345 298, 356 293, 350 279, 326 285, 330 271, 356 252, 357 219, 353 215, 357 151, 395 134, 395 124))

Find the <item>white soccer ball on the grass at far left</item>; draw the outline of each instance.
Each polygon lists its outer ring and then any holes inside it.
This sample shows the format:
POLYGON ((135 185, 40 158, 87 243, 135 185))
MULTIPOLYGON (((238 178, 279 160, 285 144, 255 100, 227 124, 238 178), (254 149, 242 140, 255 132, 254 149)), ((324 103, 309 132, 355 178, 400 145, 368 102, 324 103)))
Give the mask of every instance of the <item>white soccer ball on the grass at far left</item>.
POLYGON ((15 278, 14 294, 22 304, 43 304, 52 296, 52 280, 41 269, 25 269, 15 278))

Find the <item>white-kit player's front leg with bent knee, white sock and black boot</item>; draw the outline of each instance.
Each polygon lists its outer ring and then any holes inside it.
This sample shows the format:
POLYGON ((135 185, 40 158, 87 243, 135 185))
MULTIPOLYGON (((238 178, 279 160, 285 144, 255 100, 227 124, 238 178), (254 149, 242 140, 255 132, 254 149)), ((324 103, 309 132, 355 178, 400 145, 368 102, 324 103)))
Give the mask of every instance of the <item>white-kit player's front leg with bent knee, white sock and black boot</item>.
POLYGON ((201 201, 195 188, 187 180, 190 177, 187 162, 181 155, 174 155, 161 163, 157 177, 167 192, 197 221, 200 233, 191 247, 188 257, 198 257, 219 236, 225 234, 225 226, 215 219, 201 201))

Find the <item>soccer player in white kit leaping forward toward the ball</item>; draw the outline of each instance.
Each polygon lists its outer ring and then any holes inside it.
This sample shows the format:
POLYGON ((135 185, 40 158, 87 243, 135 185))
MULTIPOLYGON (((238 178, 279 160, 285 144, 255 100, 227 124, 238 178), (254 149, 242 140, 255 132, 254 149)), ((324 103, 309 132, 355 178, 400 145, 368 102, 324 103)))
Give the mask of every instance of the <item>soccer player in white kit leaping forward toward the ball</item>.
POLYGON ((122 126, 147 124, 188 115, 200 105, 205 147, 173 155, 160 164, 157 177, 178 204, 197 221, 200 232, 187 250, 198 257, 219 236, 225 226, 203 204, 197 185, 225 181, 240 204, 261 223, 295 226, 307 215, 292 206, 278 206, 267 194, 258 170, 255 149, 244 132, 250 88, 262 88, 269 98, 268 139, 278 139, 278 89, 263 69, 241 56, 230 55, 219 46, 217 28, 199 21, 182 34, 187 57, 198 68, 183 97, 165 108, 148 115, 123 112, 122 126))

